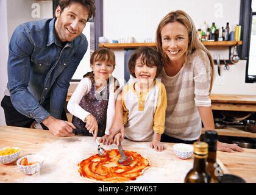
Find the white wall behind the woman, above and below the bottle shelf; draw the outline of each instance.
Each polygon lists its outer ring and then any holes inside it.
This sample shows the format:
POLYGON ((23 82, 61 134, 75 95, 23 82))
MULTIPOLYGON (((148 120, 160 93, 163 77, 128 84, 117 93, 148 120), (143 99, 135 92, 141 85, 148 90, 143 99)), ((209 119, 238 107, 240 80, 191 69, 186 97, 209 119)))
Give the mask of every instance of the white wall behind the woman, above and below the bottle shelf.
MULTIPOLYGON (((135 37, 137 42, 143 42, 150 37, 155 41, 155 30, 158 23, 167 13, 181 9, 188 13, 194 21, 196 28, 202 28, 204 21, 208 26, 215 22, 216 27, 231 27, 239 23, 240 0, 107 0, 104 1, 104 37, 118 40, 119 38, 135 37)), ((213 57, 217 53, 221 58, 229 58, 228 48, 208 48, 213 57)), ((121 51, 115 51, 119 69, 114 76, 123 79, 124 68, 121 51)), ((236 65, 224 71, 221 66, 221 85, 216 82, 212 93, 221 94, 252 94, 256 95, 256 83, 245 83, 246 61, 240 60, 236 65)), ((218 78, 216 78, 218 79, 218 78)))

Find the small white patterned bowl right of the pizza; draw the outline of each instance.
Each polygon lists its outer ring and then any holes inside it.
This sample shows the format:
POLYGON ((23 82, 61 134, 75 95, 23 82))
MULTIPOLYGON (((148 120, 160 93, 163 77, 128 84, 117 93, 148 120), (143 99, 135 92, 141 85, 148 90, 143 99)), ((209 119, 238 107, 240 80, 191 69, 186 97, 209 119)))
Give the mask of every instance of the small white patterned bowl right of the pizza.
POLYGON ((174 152, 181 159, 190 158, 193 155, 194 147, 189 144, 174 144, 174 152))

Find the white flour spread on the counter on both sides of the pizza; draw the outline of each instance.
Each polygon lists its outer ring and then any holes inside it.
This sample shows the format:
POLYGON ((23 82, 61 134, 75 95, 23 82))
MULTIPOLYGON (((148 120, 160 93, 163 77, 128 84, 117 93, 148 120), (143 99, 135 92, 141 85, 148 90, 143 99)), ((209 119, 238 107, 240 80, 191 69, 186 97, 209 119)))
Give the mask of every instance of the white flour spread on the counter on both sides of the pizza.
MULTIPOLYGON (((151 167, 146 169, 143 176, 130 182, 183 182, 193 166, 193 158, 181 160, 174 154, 172 146, 157 152, 149 147, 149 142, 124 140, 122 145, 124 150, 138 152, 151 161, 151 167)), ((102 146, 106 150, 118 149, 115 144, 102 146)), ((77 164, 97 154, 97 148, 92 137, 68 137, 44 144, 43 149, 37 152, 44 157, 40 172, 33 176, 24 175, 16 182, 90 182, 80 176, 77 164)))

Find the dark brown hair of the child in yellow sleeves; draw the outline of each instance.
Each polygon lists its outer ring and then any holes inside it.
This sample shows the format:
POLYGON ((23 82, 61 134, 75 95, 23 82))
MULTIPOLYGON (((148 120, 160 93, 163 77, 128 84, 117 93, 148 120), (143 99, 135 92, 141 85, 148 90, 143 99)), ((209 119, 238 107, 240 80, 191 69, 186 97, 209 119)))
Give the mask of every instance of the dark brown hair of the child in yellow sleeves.
POLYGON ((157 77, 161 73, 163 69, 163 64, 161 62, 160 54, 158 53, 156 48, 143 46, 135 49, 135 51, 130 56, 128 62, 129 71, 133 77, 136 77, 134 70, 136 60, 138 59, 141 59, 141 63, 147 66, 157 66, 157 74, 155 75, 155 77, 157 77))

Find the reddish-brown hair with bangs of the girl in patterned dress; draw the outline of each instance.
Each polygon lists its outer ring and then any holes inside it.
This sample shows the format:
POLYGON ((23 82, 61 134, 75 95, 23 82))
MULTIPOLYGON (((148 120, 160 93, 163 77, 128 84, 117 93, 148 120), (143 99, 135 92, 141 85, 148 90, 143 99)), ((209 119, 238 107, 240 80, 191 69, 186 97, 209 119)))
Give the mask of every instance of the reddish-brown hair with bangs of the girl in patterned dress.
MULTIPOLYGON (((107 61, 109 63, 112 63, 114 67, 116 65, 116 57, 114 52, 107 48, 100 48, 93 52, 93 54, 91 55, 90 64, 94 65, 96 61, 107 61)), ((84 77, 93 79, 93 71, 88 72, 84 75, 84 77)))

